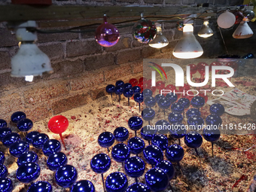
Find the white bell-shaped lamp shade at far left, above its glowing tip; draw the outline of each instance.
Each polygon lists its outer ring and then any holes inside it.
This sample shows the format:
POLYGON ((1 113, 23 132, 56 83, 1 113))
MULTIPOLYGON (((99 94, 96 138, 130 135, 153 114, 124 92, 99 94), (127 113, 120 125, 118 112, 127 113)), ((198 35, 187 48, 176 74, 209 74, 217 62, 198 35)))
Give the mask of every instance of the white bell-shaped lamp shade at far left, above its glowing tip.
POLYGON ((11 76, 26 77, 52 72, 49 57, 36 44, 21 44, 18 53, 11 58, 11 76))

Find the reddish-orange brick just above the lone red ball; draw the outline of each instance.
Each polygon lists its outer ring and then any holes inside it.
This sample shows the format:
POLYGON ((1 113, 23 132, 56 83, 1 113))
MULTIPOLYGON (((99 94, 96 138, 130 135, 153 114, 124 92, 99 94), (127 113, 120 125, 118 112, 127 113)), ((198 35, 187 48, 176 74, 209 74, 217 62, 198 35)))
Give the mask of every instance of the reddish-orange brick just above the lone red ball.
POLYGON ((88 94, 83 93, 75 96, 69 96, 66 99, 60 99, 59 101, 53 102, 53 114, 59 114, 72 108, 77 108, 81 105, 85 105, 87 104, 87 99, 88 94))

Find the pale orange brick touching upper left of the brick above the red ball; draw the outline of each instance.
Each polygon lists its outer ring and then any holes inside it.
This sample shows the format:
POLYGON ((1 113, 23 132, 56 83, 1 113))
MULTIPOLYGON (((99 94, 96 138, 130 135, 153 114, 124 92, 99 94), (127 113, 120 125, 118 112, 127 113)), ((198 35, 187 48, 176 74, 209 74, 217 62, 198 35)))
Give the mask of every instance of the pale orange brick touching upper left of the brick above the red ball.
POLYGON ((52 85, 39 88, 35 85, 32 89, 24 92, 24 99, 26 103, 35 104, 67 94, 69 94, 68 82, 60 81, 52 85))

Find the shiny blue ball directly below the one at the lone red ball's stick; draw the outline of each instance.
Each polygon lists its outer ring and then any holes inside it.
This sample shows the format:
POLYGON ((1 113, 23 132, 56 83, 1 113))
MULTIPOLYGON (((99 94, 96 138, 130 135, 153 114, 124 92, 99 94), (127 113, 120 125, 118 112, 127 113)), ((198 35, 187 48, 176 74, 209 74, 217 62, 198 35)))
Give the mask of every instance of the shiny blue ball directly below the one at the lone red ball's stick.
POLYGON ((52 171, 56 171, 60 166, 65 166, 67 163, 68 158, 62 152, 50 154, 47 159, 47 167, 52 171))

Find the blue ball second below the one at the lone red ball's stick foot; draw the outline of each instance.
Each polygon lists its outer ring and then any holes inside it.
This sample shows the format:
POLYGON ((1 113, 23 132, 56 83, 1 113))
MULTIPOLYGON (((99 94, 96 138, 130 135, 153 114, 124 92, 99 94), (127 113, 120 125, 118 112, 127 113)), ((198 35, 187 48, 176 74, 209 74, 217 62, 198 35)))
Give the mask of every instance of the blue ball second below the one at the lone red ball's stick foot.
POLYGON ((77 181, 78 172, 74 166, 60 166, 55 172, 55 181, 60 187, 71 187, 77 181))

